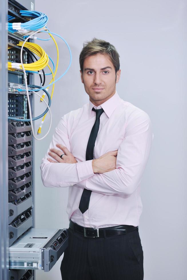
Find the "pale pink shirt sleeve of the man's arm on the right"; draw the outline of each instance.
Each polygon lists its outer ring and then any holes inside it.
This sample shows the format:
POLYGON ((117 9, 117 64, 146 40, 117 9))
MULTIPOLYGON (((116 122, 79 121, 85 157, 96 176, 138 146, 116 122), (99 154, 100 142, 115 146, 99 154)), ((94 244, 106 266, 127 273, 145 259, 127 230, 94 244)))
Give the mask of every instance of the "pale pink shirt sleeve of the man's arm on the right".
POLYGON ((153 137, 148 114, 134 111, 128 118, 125 137, 118 148, 116 169, 96 173, 77 185, 105 195, 131 195, 142 179, 153 137))

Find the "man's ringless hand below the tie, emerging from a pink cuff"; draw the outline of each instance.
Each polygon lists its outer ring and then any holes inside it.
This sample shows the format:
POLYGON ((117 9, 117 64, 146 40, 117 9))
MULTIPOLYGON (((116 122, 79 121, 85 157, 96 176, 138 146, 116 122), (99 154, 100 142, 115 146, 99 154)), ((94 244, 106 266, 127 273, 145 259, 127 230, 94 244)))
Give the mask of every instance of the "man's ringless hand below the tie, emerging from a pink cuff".
POLYGON ((94 173, 105 173, 116 169, 116 157, 118 150, 110 151, 98 159, 93 159, 92 169, 94 173))

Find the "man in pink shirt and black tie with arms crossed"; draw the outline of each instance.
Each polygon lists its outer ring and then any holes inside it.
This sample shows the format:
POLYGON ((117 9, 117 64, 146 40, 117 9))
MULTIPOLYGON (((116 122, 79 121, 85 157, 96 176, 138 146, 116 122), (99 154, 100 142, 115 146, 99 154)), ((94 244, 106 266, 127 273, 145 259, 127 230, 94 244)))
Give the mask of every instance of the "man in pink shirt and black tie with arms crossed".
POLYGON ((89 103, 61 118, 41 163, 46 187, 69 187, 62 279, 142 280, 140 181, 153 139, 150 118, 119 97, 113 45, 94 38, 79 62, 89 103))

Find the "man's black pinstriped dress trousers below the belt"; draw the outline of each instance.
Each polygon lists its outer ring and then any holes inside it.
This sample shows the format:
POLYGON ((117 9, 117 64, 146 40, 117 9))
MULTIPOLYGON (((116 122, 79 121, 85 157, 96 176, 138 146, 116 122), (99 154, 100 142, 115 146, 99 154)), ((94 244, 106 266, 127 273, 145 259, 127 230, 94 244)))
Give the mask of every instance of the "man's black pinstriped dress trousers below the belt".
POLYGON ((111 237, 84 237, 68 228, 69 245, 61 263, 62 280, 143 280, 138 230, 111 237))

